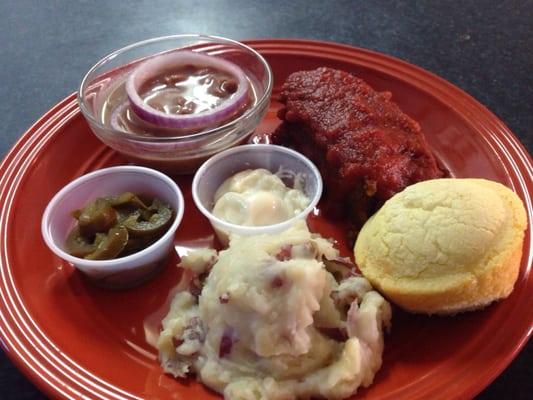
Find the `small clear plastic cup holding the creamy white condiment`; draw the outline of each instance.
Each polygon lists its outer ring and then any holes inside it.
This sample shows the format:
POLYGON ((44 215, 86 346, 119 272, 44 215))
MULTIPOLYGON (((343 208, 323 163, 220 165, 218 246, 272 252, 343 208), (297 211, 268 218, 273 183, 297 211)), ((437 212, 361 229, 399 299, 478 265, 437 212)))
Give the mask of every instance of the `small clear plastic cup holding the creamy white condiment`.
POLYGON ((249 144, 223 151, 211 157, 198 169, 192 183, 194 203, 209 219, 218 238, 225 245, 229 236, 233 234, 241 236, 272 234, 288 229, 296 220, 305 219, 309 215, 321 195, 322 178, 316 166, 302 154, 272 144, 249 144), (273 225, 236 225, 215 217, 211 210, 214 206, 215 192, 220 185, 237 172, 257 168, 277 173, 289 188, 294 187, 294 177, 297 176, 303 186, 304 194, 310 199, 309 205, 294 217, 273 225))

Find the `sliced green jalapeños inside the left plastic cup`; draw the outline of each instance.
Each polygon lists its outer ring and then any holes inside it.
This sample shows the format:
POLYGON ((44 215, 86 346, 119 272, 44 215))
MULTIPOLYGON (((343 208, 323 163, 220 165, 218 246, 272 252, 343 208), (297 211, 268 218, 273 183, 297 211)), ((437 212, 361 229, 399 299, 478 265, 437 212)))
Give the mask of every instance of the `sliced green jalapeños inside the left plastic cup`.
POLYGON ((157 241, 174 220, 174 210, 155 198, 125 192, 99 197, 72 212, 77 220, 65 242, 67 253, 108 260, 140 251, 157 241))

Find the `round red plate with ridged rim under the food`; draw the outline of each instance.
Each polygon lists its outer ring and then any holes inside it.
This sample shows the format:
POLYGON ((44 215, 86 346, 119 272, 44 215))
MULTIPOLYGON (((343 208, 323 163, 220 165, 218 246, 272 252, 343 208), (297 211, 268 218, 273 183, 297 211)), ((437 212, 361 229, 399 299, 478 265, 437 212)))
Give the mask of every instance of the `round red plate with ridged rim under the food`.
MULTIPOLYGON (((533 217, 532 161, 509 129, 451 84, 405 62, 367 50, 295 40, 249 42, 269 61, 275 87, 292 71, 327 65, 351 71, 418 120, 437 156, 457 177, 511 187, 533 217)), ((276 90, 274 90, 276 93, 276 90)), ((260 131, 278 123, 273 102, 260 131)), ((124 160, 90 132, 70 96, 17 142, 0 167, 0 334, 11 359, 51 398, 207 399, 202 385, 162 373, 149 345, 178 274, 171 265, 131 291, 98 289, 45 246, 41 214, 62 186, 124 160)), ((176 249, 209 244, 213 233, 195 209, 189 179, 179 179, 186 215, 176 249)), ((325 235, 334 224, 313 220, 325 235)), ((453 318, 395 310, 383 367, 363 399, 471 398, 526 343, 533 321, 532 238, 528 229, 513 294, 479 312, 453 318)), ((348 249, 343 247, 343 252, 348 249)), ((177 256, 172 263, 175 263, 177 256)))

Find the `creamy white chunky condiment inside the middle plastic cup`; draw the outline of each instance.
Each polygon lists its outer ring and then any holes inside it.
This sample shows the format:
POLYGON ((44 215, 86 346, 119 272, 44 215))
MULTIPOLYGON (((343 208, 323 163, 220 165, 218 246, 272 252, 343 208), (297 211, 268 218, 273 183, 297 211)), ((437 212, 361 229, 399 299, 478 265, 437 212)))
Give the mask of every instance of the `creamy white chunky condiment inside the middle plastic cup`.
POLYGON ((263 169, 248 169, 226 179, 215 192, 213 215, 244 226, 264 226, 286 221, 309 205, 298 179, 294 188, 263 169))

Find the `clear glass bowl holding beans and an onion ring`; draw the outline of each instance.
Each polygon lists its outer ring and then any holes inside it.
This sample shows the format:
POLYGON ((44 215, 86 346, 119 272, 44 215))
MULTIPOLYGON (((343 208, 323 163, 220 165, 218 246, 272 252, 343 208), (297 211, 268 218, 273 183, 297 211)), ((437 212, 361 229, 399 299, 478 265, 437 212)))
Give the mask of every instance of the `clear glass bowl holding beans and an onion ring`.
POLYGON ((215 36, 175 35, 134 43, 98 61, 81 82, 78 102, 90 128, 106 145, 134 163, 170 174, 186 174, 211 155, 248 139, 268 110, 272 81, 265 59, 242 43, 215 36), (117 87, 124 86, 142 61, 180 50, 223 58, 240 67, 254 97, 249 108, 222 126, 186 134, 140 135, 111 127, 107 110, 127 100, 125 91, 117 91, 117 87), (113 96, 108 101, 111 92, 120 91, 123 97, 113 96))

